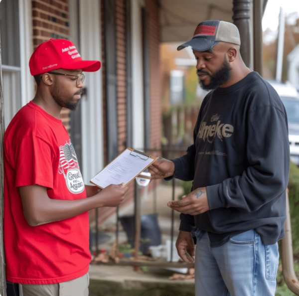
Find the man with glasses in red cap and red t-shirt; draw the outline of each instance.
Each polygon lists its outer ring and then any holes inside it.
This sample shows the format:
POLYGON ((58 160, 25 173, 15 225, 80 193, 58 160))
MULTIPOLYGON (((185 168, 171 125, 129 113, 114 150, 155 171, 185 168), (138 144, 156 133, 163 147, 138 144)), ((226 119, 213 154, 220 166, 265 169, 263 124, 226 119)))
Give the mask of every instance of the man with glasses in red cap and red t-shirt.
POLYGON ((84 74, 100 69, 72 42, 51 39, 33 52, 37 90, 4 135, 4 248, 6 279, 24 296, 87 296, 88 211, 115 207, 128 188, 84 185, 74 147, 60 120, 75 109, 84 74), (88 198, 86 198, 88 197, 88 198))

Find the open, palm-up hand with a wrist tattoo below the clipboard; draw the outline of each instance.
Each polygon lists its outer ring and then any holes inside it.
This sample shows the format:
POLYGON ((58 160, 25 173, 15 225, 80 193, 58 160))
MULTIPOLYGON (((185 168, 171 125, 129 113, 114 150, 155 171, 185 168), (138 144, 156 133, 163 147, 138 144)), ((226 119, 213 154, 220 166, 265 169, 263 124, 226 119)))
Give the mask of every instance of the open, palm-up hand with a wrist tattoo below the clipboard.
POLYGON ((167 206, 177 212, 198 215, 208 211, 207 188, 201 187, 184 195, 181 200, 169 201, 167 206))

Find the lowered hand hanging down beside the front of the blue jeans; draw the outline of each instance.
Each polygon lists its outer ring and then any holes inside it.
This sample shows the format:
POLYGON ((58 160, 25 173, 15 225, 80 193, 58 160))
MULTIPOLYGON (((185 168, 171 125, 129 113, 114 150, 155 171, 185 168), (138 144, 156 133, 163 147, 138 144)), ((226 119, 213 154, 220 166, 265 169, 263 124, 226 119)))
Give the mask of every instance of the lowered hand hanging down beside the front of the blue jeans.
POLYGON ((194 262, 194 244, 190 232, 180 231, 175 246, 177 254, 184 262, 194 262))

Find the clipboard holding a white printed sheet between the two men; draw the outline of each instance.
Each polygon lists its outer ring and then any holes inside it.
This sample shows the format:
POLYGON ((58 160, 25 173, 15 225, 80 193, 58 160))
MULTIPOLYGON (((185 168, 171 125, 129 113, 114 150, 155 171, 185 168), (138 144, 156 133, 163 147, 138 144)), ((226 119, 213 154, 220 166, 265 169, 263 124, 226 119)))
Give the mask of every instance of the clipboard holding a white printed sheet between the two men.
POLYGON ((98 172, 90 183, 101 189, 110 184, 125 183, 127 186, 156 159, 155 156, 128 147, 98 172))

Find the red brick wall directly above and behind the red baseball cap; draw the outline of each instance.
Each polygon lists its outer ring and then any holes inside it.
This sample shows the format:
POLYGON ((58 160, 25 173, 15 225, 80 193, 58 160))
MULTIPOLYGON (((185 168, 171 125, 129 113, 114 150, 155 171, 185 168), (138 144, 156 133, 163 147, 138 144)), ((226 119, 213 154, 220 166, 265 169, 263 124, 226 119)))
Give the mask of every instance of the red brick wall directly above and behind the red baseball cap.
MULTIPOLYGON (((68 38, 68 0, 32 0, 33 46, 50 38, 68 38)), ((70 111, 63 108, 60 114, 67 131, 70 130, 70 111)))

